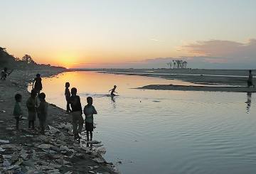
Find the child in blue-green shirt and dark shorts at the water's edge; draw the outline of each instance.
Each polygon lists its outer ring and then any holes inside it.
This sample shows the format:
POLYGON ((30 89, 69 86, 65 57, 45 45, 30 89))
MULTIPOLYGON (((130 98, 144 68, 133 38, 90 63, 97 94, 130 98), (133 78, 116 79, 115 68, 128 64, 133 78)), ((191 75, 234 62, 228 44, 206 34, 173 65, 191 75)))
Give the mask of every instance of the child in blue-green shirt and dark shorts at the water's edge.
POLYGON ((92 106, 92 97, 87 97, 87 105, 85 105, 83 112, 85 114, 85 130, 87 141, 89 141, 89 132, 90 141, 92 141, 93 114, 97 114, 95 107, 92 106))

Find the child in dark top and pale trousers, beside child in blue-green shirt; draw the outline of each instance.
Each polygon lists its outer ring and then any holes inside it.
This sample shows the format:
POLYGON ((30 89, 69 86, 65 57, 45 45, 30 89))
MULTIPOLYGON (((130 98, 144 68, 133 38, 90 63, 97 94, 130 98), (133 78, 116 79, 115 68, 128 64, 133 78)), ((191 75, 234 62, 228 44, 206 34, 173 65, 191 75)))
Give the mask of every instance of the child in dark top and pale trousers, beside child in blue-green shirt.
POLYGON ((71 106, 71 114, 72 114, 72 122, 73 122, 73 134, 74 138, 78 139, 80 138, 78 133, 81 134, 82 132, 82 124, 83 124, 83 119, 82 119, 82 106, 80 102, 80 97, 76 95, 78 90, 73 87, 71 89, 71 97, 68 99, 68 103, 71 106))

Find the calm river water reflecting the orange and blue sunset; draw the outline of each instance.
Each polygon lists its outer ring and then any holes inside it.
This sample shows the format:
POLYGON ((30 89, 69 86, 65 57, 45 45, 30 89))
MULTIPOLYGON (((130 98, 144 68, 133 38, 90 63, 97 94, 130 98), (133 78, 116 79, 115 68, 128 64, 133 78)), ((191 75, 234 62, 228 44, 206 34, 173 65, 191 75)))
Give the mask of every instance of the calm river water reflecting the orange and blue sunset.
POLYGON ((122 161, 117 168, 124 174, 256 173, 255 94, 132 89, 189 83, 65 72, 43 79, 48 102, 65 108, 65 82, 77 87, 82 108, 93 97, 93 139, 104 144, 107 161, 122 161), (119 96, 112 99, 113 85, 119 96))

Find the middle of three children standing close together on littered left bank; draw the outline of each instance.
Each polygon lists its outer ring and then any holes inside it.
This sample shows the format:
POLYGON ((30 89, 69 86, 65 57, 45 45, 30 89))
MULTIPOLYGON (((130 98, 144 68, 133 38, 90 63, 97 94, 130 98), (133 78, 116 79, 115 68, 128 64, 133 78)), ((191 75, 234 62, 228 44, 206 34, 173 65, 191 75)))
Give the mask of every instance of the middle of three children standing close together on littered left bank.
POLYGON ((28 98, 26 102, 26 107, 28 108, 28 129, 35 129, 35 121, 36 121, 36 90, 31 90, 31 97, 28 98))

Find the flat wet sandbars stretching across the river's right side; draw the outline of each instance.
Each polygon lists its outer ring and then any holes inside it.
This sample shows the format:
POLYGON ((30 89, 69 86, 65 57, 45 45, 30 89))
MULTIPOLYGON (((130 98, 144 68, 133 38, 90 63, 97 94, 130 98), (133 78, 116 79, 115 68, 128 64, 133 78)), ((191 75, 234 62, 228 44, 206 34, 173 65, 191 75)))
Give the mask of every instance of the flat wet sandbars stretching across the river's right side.
MULTIPOLYGON (((149 84, 138 89, 208 91, 208 92, 256 92, 256 87, 247 88, 248 70, 170 70, 170 69, 114 69, 105 70, 117 75, 140 75, 182 80, 195 85, 149 84), (214 87, 213 87, 214 85, 214 87)), ((256 70, 252 70, 256 72, 256 70)))

